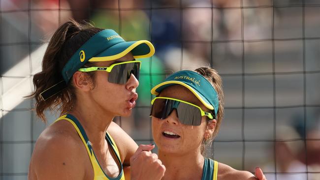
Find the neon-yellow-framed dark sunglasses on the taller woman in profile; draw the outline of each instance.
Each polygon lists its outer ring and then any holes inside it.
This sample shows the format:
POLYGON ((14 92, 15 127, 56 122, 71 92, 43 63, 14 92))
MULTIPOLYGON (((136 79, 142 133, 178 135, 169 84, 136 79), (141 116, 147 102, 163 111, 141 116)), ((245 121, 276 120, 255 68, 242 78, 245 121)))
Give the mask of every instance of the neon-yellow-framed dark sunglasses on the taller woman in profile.
POLYGON ((126 84, 130 75, 139 80, 139 73, 141 68, 141 61, 131 60, 125 62, 114 63, 109 67, 87 67, 80 68, 78 71, 91 72, 91 71, 107 71, 109 72, 108 81, 115 84, 126 84))

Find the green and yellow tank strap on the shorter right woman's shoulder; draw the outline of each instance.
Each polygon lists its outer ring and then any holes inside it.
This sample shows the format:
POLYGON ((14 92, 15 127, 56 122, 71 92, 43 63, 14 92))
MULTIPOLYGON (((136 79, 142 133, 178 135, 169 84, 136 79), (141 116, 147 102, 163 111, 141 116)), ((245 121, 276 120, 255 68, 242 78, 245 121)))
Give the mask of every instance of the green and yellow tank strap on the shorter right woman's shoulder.
POLYGON ((217 180, 218 162, 210 158, 204 158, 201 180, 217 180))

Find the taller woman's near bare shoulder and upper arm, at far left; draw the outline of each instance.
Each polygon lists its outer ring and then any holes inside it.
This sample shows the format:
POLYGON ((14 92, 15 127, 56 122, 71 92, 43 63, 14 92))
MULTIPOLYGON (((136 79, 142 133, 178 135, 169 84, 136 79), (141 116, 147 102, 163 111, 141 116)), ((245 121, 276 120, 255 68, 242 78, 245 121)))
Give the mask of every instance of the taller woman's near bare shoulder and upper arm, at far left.
POLYGON ((35 143, 29 178, 84 179, 88 155, 81 143, 76 130, 65 120, 47 127, 35 143))

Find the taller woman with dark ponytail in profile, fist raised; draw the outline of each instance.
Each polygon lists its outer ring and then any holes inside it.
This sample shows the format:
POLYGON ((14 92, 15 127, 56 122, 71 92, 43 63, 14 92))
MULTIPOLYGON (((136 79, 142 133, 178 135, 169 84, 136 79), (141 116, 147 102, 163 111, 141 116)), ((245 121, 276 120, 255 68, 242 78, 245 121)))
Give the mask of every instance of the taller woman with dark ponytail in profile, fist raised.
POLYGON ((160 180, 165 168, 116 123, 137 99, 141 61, 155 50, 147 40, 125 41, 114 30, 73 20, 61 25, 48 44, 42 71, 34 75, 37 116, 61 117, 35 143, 29 180, 160 180), (137 59, 137 60, 136 60, 137 59))

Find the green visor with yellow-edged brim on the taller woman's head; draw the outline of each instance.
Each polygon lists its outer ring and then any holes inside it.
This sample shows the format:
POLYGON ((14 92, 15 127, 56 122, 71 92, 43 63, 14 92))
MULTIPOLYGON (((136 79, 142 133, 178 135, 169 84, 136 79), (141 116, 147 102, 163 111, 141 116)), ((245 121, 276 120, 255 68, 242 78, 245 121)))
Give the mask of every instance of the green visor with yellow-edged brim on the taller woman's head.
POLYGON ((84 43, 66 62, 61 72, 63 79, 53 86, 49 85, 49 88, 40 95, 46 100, 59 93, 67 86, 73 74, 88 61, 117 60, 129 52, 134 59, 149 58, 155 54, 155 48, 147 40, 125 41, 114 30, 101 30, 84 43))

